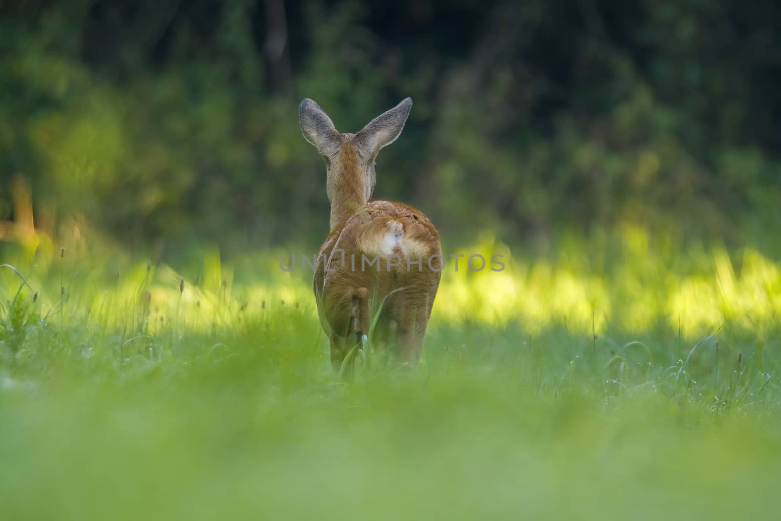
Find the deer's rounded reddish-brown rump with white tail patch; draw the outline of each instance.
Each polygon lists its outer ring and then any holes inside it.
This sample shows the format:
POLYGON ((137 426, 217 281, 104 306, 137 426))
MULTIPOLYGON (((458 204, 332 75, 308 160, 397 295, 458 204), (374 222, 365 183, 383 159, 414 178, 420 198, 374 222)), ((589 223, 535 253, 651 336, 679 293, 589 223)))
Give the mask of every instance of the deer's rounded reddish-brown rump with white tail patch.
POLYGON ((376 305, 384 300, 383 315, 391 319, 410 308, 425 309, 427 319, 442 260, 437 230, 423 212, 398 202, 369 202, 320 248, 314 291, 323 327, 342 330, 339 320, 367 291, 376 305))

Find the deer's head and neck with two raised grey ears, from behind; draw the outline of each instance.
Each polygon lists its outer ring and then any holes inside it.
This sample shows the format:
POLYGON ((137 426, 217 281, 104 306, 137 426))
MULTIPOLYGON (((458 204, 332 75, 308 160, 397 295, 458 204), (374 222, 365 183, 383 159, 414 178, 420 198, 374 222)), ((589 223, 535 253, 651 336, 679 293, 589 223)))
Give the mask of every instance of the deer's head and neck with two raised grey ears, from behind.
POLYGON ((301 133, 326 160, 332 230, 369 202, 376 184, 374 161, 377 153, 396 141, 410 109, 412 98, 406 98, 374 118, 357 134, 341 134, 316 102, 309 98, 301 102, 298 107, 301 133))

